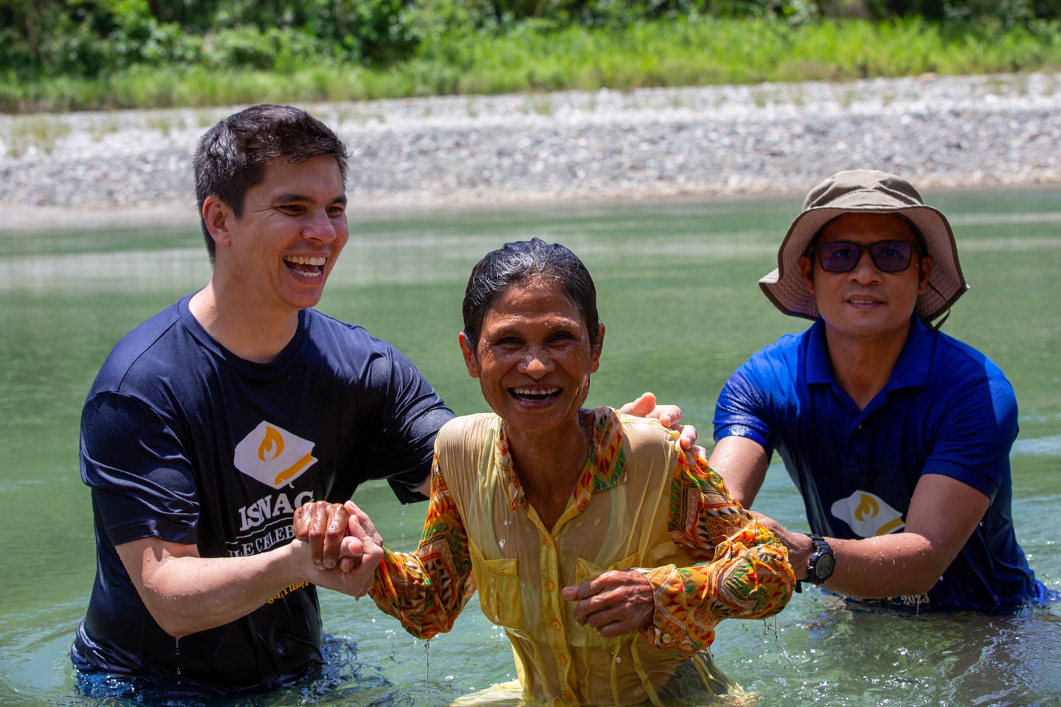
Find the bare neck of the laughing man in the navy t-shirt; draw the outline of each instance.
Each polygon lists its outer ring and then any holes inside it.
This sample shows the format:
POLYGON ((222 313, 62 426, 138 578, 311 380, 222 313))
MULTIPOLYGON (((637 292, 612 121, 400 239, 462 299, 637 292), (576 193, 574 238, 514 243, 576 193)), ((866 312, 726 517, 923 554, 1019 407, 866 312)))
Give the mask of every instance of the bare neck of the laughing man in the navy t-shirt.
POLYGON ((192 316, 221 346, 240 358, 267 364, 288 346, 298 330, 298 312, 267 313, 219 293, 213 280, 188 304, 192 316), (253 313, 253 314, 251 314, 253 313))

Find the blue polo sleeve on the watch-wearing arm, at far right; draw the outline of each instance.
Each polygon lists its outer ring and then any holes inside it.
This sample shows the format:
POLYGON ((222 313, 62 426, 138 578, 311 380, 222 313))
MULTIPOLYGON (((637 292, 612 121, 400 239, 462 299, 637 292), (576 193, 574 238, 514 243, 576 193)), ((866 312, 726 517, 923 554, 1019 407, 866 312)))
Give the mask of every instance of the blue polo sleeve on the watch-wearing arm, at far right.
POLYGON ((1012 386, 1001 374, 987 376, 955 397, 940 425, 922 474, 950 476, 993 500, 1009 473, 1009 452, 1016 439, 1012 386))

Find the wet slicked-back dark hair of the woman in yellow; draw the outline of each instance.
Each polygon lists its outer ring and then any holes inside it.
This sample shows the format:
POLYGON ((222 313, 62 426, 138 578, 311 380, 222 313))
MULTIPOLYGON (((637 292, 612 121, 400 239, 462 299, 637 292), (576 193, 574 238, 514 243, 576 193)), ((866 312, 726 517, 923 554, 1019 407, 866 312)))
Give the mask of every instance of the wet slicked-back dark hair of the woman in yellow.
POLYGON ((578 257, 559 243, 547 244, 541 238, 506 243, 491 250, 475 264, 468 278, 462 310, 465 336, 472 351, 483 333, 483 318, 505 290, 532 280, 551 280, 564 293, 582 315, 589 333, 590 347, 599 346, 601 320, 596 308, 596 287, 593 278, 578 257))

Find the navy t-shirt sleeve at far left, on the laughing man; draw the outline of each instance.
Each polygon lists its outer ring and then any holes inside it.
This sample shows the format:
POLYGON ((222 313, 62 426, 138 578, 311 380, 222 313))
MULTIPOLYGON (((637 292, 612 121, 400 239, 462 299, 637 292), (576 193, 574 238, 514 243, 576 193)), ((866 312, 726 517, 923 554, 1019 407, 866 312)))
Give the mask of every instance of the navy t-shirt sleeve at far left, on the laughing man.
POLYGON ((100 392, 86 402, 81 474, 112 545, 152 536, 195 544, 192 465, 171 427, 143 401, 100 392))

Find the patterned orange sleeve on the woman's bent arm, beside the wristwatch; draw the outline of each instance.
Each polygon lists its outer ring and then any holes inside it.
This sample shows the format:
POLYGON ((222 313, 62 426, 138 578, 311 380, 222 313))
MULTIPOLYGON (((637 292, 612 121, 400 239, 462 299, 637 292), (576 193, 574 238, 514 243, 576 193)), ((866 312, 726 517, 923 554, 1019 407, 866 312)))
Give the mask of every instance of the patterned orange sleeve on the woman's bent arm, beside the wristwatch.
POLYGON ((657 648, 692 655, 711 646, 721 619, 765 618, 792 598, 796 577, 788 550, 729 495, 703 457, 690 466, 685 455, 678 455, 667 530, 698 562, 639 570, 656 602, 642 635, 657 648))

